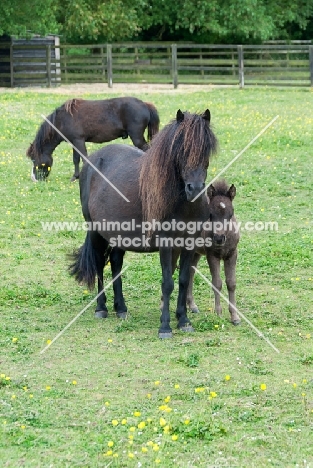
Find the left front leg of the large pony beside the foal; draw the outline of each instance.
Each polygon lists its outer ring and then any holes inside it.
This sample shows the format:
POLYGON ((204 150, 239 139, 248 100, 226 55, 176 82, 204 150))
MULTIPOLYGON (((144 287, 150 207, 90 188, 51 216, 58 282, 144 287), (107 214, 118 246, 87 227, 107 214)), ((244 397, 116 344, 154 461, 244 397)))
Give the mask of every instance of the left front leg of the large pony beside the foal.
POLYGON ((172 249, 160 247, 160 262, 162 267, 162 313, 160 317, 161 326, 159 328, 159 338, 171 338, 172 329, 170 327, 170 296, 174 289, 172 276, 172 249))

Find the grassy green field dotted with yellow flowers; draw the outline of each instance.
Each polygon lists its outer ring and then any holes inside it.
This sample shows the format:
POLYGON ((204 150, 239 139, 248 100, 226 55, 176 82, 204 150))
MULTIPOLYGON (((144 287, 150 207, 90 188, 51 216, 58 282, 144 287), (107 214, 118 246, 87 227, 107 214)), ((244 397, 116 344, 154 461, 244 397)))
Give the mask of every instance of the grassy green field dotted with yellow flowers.
MULTIPOLYGON (((127 253, 127 320, 113 312, 96 320, 92 304, 40 354, 95 295, 67 271, 67 255, 84 233, 41 228, 42 221, 82 221, 70 148, 55 151, 47 183, 31 182, 25 157, 41 114, 74 96, 3 92, 1 466, 313 467, 313 94, 264 88, 136 96, 157 106, 162 126, 178 108, 211 110, 219 153, 209 179, 279 115, 224 174, 237 188, 240 221, 278 222, 278 231, 241 233, 237 305, 279 353, 244 321, 233 327, 226 304, 217 318, 197 275, 196 331, 175 330, 176 287, 174 335, 160 341, 158 255, 127 253)), ((205 259, 199 268, 210 278, 205 259)), ((111 307, 111 288, 108 301, 111 307)))

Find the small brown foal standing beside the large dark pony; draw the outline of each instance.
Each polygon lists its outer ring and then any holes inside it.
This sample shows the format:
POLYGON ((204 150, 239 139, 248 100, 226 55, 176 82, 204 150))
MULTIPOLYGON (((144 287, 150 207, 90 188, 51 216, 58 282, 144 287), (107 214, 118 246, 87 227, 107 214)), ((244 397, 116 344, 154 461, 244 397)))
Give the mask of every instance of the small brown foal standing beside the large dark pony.
MULTIPOLYGON (((237 246, 239 242, 239 229, 234 216, 233 199, 236 195, 236 187, 230 187, 224 180, 215 182, 207 190, 209 198, 209 218, 208 228, 202 232, 204 237, 210 237, 212 245, 210 247, 197 249, 192 266, 197 267, 201 255, 205 255, 210 267, 212 285, 214 286, 215 306, 217 315, 221 315, 222 307, 220 303, 219 291, 222 290, 222 280, 220 275, 220 262, 224 262, 226 286, 228 290, 228 308, 230 320, 234 325, 239 325, 240 318, 236 311, 236 261, 237 246)), ((192 312, 199 312, 193 298, 193 278, 195 270, 191 268, 190 282, 187 294, 187 305, 192 312)))

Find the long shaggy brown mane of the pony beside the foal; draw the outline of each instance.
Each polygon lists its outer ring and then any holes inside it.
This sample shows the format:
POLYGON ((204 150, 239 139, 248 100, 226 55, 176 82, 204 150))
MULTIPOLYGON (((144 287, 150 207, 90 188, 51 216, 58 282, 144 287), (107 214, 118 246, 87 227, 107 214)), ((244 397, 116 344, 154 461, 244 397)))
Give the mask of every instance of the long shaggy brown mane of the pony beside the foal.
POLYGON ((144 219, 162 220, 177 203, 182 171, 207 167, 217 149, 217 139, 204 116, 184 112, 152 140, 143 156, 139 187, 144 219))

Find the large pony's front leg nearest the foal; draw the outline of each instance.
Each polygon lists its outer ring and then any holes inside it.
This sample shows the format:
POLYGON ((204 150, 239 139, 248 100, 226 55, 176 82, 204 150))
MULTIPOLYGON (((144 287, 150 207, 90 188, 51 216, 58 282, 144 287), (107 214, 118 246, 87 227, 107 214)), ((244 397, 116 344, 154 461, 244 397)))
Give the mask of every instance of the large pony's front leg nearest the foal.
POLYGON ((182 331, 194 331, 190 320, 187 317, 187 290, 190 279, 190 267, 193 260, 194 251, 182 249, 179 263, 179 291, 177 299, 176 318, 177 327, 182 331))

